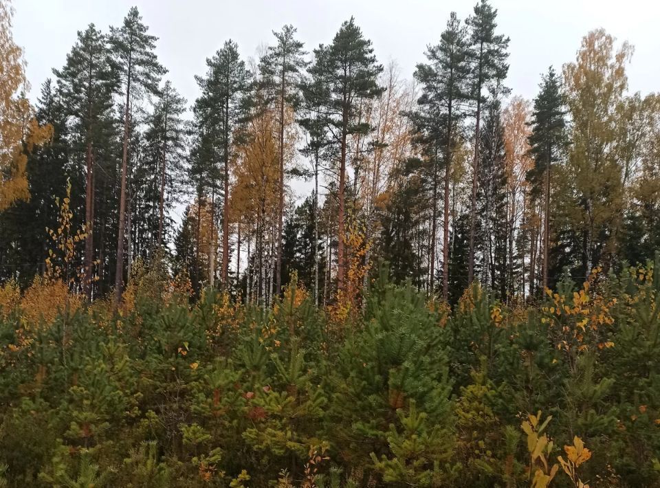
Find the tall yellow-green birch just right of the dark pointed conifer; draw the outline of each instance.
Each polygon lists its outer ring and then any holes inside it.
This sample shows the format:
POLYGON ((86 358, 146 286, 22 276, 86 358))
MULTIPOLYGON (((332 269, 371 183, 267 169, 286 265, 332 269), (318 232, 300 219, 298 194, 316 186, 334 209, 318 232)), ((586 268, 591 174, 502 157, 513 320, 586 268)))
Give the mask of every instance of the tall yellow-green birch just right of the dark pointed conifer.
POLYGON ((573 186, 580 202, 567 201, 564 211, 573 229, 586 234, 590 259, 591 241, 617 221, 624 210, 624 168, 618 157, 617 126, 628 88, 626 64, 632 50, 628 43, 617 48, 613 36, 597 29, 582 39, 575 62, 564 65, 572 122, 564 186, 573 186))

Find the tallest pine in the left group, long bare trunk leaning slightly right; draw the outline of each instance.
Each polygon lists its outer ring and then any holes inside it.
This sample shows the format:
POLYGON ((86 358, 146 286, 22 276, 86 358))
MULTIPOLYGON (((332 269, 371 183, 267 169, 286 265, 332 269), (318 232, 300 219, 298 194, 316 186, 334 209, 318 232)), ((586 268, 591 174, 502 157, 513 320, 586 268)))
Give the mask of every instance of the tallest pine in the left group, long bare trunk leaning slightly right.
POLYGON ((120 182, 117 264, 115 270, 115 303, 122 298, 124 287, 124 241, 126 240, 126 175, 128 173, 129 135, 131 133, 131 96, 144 89, 157 93, 158 80, 165 69, 158 63, 155 53, 157 37, 148 34, 137 8, 132 7, 121 27, 110 27, 113 65, 121 77, 124 100, 124 142, 120 182))

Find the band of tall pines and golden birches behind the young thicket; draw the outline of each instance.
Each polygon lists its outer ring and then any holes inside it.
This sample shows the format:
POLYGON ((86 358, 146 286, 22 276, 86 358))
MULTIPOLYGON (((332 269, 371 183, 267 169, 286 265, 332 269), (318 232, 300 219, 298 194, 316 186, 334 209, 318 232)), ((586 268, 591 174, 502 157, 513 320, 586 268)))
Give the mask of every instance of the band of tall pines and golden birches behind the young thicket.
POLYGON ((510 302, 645 262, 660 247, 660 98, 628 92, 632 47, 589 32, 529 102, 506 87, 496 16, 487 1, 452 13, 412 80, 354 19, 309 51, 290 25, 254 59, 226 41, 191 112, 137 9, 89 25, 22 132, 0 280, 43 273, 67 180, 85 245, 66 274, 91 299, 118 300, 135 260, 163 253, 197 296, 211 285, 264 304, 292 271, 333 303, 379 260, 452 304, 474 280, 510 302), (50 142, 34 146, 40 126, 50 142), (311 195, 296 203, 301 180, 311 195))

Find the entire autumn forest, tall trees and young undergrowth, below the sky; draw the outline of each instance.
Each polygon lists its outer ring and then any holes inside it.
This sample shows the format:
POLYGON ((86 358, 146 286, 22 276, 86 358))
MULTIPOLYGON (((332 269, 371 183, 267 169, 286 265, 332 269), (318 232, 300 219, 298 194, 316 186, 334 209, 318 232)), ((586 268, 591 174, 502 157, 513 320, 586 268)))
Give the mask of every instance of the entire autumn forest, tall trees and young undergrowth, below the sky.
POLYGON ((526 100, 478 0, 410 79, 349 17, 219 39, 186 100, 134 7, 30 100, 14 13, 0 487, 660 487, 632 45, 586 32, 526 100))

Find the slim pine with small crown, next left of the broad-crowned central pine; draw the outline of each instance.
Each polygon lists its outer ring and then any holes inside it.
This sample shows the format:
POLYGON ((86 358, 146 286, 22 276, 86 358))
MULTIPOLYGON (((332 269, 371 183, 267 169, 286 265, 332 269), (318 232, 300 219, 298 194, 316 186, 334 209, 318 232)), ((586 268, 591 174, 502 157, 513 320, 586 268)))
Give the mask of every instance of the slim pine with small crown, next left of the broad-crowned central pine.
POLYGON ((285 111, 287 107, 295 109, 300 103, 300 82, 303 70, 307 66, 303 43, 296 41, 296 29, 285 25, 281 32, 273 32, 277 43, 268 47, 267 54, 261 59, 260 71, 268 91, 276 99, 278 108, 278 153, 280 162, 280 203, 277 221, 277 255, 275 270, 275 292, 282 289, 282 225, 284 221, 285 189, 285 111))

